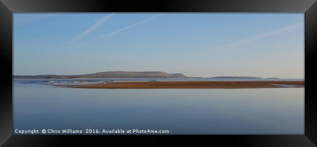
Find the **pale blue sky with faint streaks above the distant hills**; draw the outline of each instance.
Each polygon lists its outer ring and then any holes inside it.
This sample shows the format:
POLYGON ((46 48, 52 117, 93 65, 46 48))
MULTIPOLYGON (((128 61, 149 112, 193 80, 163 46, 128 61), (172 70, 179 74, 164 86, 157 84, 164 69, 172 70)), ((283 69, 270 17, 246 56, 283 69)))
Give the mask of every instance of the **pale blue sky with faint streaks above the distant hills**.
POLYGON ((14 75, 304 78, 303 13, 15 13, 14 75))

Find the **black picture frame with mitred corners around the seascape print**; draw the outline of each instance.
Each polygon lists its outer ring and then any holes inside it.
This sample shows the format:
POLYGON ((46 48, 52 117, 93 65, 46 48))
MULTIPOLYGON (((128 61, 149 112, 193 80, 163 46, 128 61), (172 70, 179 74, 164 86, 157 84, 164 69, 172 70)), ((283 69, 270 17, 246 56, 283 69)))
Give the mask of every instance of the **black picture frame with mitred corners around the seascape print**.
POLYGON ((56 147, 79 144, 167 145, 217 143, 241 147, 316 147, 316 0, 0 0, 0 146, 56 147), (273 12, 305 13, 304 135, 12 135, 12 18, 19 12, 273 12), (144 143, 152 141, 152 143, 144 143), (139 142, 139 143, 138 143, 139 142))

